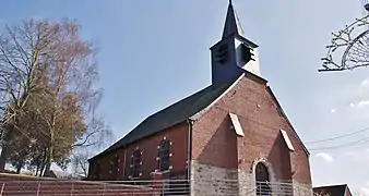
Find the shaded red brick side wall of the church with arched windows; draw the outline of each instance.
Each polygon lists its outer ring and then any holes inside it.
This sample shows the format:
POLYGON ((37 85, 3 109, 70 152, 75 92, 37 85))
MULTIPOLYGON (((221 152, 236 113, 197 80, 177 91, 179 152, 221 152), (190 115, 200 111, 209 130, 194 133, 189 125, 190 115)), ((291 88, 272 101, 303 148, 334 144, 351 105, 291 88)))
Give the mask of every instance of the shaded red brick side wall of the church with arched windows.
POLYGON ((157 134, 143 138, 139 142, 132 143, 127 146, 126 149, 121 148, 117 151, 110 152, 104 157, 97 158, 96 160, 92 160, 91 170, 88 176, 92 177, 94 171, 96 171, 97 160, 103 166, 102 179, 98 180, 128 180, 130 175, 130 164, 131 164, 131 156, 133 151, 138 148, 142 151, 142 166, 141 180, 152 179, 151 172, 154 172, 158 167, 158 161, 156 157, 158 155, 157 146, 163 142, 164 137, 171 143, 170 152, 171 157, 169 159, 170 166, 172 169, 170 173, 186 173, 186 161, 187 161, 187 146, 188 146, 188 123, 183 122, 171 126, 167 130, 164 130, 157 134), (126 154, 126 161, 124 161, 126 154), (119 157, 119 171, 117 175, 115 173, 110 173, 110 162, 114 160, 115 156, 119 157))

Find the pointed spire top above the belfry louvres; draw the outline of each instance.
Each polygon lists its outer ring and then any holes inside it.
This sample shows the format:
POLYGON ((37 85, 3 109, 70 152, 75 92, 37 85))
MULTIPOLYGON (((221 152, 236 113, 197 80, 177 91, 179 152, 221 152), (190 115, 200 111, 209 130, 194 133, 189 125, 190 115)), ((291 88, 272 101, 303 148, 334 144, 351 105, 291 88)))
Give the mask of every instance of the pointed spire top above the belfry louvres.
POLYGON ((223 39, 226 38, 229 35, 240 35, 243 36, 243 28, 241 23, 239 22, 238 15, 236 11, 234 10, 234 5, 231 3, 231 0, 229 0, 228 4, 228 11, 227 11, 227 17, 224 25, 223 30, 223 39))

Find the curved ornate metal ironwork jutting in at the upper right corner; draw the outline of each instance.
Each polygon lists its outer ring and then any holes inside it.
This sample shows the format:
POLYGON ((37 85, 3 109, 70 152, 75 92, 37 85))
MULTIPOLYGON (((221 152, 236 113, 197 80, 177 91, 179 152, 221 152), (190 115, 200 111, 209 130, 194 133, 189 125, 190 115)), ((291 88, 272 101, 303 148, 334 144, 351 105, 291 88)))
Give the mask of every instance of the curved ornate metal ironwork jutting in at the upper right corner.
POLYGON ((364 16, 355 19, 337 33, 332 33, 331 45, 326 46, 328 53, 321 60, 319 72, 345 71, 361 66, 369 66, 369 0, 362 2, 364 16))

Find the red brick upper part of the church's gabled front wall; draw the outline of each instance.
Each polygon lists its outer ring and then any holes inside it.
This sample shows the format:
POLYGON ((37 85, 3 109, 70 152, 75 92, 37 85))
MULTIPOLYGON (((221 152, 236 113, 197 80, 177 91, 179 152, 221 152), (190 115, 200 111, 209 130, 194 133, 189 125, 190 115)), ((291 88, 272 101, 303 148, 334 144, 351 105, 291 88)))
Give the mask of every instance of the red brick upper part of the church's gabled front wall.
POLYGON ((253 76, 243 77, 193 125, 192 159, 221 168, 251 170, 260 152, 273 167, 275 177, 311 184, 308 156, 291 127, 277 112, 266 85, 253 76), (228 112, 238 115, 245 137, 230 128, 228 112), (289 152, 279 130, 285 130, 295 147, 289 152), (238 146, 238 150, 237 150, 238 146))

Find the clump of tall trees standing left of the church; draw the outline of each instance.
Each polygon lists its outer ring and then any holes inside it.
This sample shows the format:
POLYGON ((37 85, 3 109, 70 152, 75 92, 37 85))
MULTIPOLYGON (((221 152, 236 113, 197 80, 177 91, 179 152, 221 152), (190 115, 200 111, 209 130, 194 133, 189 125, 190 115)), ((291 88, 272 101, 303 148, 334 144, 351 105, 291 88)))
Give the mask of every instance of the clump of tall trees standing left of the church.
POLYGON ((28 163, 37 163, 40 175, 52 162, 67 166, 74 148, 99 146, 111 136, 95 112, 102 97, 94 88, 97 50, 80 37, 80 27, 68 20, 29 21, 0 36, 0 170, 19 133, 35 142, 37 156, 28 163))

